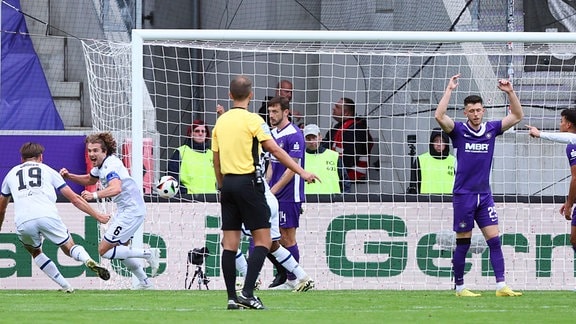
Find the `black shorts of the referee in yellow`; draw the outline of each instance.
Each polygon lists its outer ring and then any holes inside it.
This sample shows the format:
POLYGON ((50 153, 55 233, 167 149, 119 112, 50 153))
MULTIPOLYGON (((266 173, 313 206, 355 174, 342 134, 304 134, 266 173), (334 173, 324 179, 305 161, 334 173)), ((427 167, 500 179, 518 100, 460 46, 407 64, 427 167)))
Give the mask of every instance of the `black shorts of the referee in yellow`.
POLYGON ((251 231, 270 228, 264 184, 256 183, 254 174, 225 175, 220 195, 223 231, 240 230, 242 223, 251 231))

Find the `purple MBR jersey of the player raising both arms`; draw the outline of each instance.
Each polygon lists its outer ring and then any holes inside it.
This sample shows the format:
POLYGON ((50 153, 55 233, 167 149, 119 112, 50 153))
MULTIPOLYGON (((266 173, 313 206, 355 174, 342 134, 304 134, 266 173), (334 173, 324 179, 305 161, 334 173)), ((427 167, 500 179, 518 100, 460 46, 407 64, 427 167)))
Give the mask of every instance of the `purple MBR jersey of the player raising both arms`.
POLYGON ((456 156, 456 179, 453 192, 460 194, 491 193, 490 171, 496 136, 502 134, 502 121, 482 123, 475 131, 467 123, 455 122, 448 134, 456 156))

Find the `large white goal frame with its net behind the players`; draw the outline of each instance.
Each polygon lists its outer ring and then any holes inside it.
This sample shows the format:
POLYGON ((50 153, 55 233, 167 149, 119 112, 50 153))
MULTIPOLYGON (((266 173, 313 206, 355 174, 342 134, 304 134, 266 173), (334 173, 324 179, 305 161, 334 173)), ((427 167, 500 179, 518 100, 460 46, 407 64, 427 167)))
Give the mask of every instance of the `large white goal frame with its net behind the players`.
MULTIPOLYGON (((576 51, 569 37, 146 30, 134 31, 131 44, 90 40, 84 50, 95 128, 130 144, 122 154, 143 183, 143 243, 161 248, 159 289, 187 288, 186 275, 197 269, 188 252, 204 246, 208 285, 224 289, 215 195, 165 200, 152 187, 168 173, 174 151, 190 143, 191 123, 202 120, 211 130, 216 106, 230 108, 229 82, 239 74, 253 81, 252 112, 288 80, 297 125, 316 124, 326 134, 335 124, 333 106, 344 97, 367 120, 374 145, 366 180, 352 182, 348 193, 307 195, 304 204, 300 263, 319 289, 452 288, 451 195, 412 193, 413 164, 429 151, 438 127, 434 110, 451 76, 461 75, 448 110, 457 121, 465 120, 470 94, 484 99, 485 120, 506 116, 509 103, 497 80, 510 79, 525 117, 498 137, 491 174, 506 281, 515 289, 563 289, 573 287, 575 275, 570 224, 558 214, 569 186, 565 146, 531 139, 524 125, 556 131, 560 111, 573 106, 576 51)), ((489 252, 479 230, 473 233, 466 283, 492 289, 489 252)), ((269 264, 261 276, 267 286, 269 264)), ((126 280, 114 276, 111 287, 126 280)))

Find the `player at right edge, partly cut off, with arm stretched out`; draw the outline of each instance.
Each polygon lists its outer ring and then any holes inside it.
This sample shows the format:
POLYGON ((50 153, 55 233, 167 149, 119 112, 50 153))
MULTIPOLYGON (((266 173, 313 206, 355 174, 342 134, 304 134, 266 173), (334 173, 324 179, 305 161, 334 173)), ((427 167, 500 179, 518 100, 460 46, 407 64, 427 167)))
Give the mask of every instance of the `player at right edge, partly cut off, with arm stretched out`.
POLYGON ((532 137, 568 144, 566 145, 566 157, 570 164, 572 180, 570 180, 568 197, 566 197, 566 201, 560 207, 560 214, 564 215, 566 220, 571 220, 570 243, 572 244, 572 249, 576 252, 576 209, 572 210, 576 201, 576 109, 564 109, 560 116, 561 133, 541 132, 538 128, 530 125, 526 125, 526 127, 530 129, 529 134, 532 137))

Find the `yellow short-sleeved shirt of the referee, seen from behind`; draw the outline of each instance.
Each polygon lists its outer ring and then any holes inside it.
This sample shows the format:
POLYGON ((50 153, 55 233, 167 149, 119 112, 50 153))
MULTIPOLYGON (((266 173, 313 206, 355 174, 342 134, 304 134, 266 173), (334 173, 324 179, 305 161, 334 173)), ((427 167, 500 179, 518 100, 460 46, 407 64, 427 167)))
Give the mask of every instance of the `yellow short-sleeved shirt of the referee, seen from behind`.
POLYGON ((218 118, 212 131, 212 151, 220 154, 222 174, 254 173, 254 138, 258 141, 260 156, 260 143, 272 139, 272 135, 270 128, 258 114, 243 108, 233 108, 218 118))

